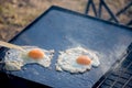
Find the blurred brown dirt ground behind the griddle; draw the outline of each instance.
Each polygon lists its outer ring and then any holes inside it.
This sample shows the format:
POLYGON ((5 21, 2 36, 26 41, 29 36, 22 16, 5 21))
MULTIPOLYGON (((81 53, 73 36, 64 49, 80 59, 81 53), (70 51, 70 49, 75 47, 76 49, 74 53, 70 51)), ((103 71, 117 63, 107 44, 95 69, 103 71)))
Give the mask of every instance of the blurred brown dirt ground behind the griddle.
MULTIPOLYGON (((73 11, 85 13, 87 1, 88 0, 0 0, 0 40, 11 40, 51 6, 59 6, 73 11)), ((98 7, 99 0, 94 1, 98 7)), ((107 1, 112 12, 117 13, 117 11, 131 0, 105 1, 107 1)), ((94 15, 92 11, 90 11, 89 15, 94 15)), ((109 18, 105 9, 102 18, 109 18)), ((131 20, 132 7, 118 19, 122 23, 127 23, 131 20)))

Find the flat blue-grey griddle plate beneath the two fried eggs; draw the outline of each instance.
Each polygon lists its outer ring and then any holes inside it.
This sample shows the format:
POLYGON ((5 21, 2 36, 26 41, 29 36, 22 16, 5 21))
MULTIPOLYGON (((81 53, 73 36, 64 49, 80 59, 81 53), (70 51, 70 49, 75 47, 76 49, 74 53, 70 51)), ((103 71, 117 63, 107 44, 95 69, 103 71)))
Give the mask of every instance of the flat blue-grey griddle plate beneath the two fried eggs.
POLYGON ((132 42, 132 31, 123 25, 52 7, 10 42, 55 50, 50 68, 30 64, 22 70, 10 72, 11 75, 54 88, 91 88, 117 61, 125 56, 132 42), (56 72, 58 51, 78 45, 97 51, 101 65, 85 74, 56 72))

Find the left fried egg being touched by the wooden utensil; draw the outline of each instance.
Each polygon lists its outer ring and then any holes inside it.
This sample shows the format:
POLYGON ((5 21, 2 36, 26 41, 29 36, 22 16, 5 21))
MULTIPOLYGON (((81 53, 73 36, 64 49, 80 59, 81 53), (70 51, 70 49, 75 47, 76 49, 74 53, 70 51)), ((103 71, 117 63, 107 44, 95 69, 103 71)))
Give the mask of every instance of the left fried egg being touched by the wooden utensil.
POLYGON ((26 52, 9 50, 4 56, 7 70, 20 70, 26 64, 36 63, 43 67, 50 67, 54 50, 44 50, 36 46, 23 46, 26 52))

